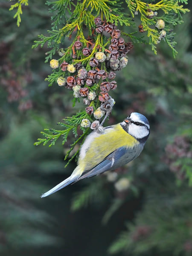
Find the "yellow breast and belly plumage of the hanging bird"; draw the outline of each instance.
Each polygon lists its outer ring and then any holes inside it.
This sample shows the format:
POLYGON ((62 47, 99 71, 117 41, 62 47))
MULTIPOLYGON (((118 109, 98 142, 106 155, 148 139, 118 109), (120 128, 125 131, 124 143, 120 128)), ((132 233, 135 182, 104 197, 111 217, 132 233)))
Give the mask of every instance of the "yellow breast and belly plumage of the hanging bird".
POLYGON ((132 148, 139 142, 128 134, 120 124, 113 125, 111 128, 105 129, 104 134, 99 134, 90 143, 89 148, 83 159, 79 159, 79 166, 84 171, 92 169, 102 160, 120 147, 132 148))

